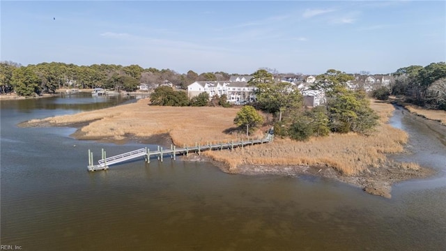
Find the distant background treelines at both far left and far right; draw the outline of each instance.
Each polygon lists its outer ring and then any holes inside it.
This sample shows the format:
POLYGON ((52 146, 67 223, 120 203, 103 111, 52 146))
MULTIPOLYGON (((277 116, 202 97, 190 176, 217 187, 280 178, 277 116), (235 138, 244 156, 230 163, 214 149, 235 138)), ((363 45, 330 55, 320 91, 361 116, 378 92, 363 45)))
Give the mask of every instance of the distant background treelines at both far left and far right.
MULTIPOLYGON (((266 68, 269 73, 279 77, 275 69, 266 68)), ((289 74, 289 73, 287 73, 289 74)), ((239 74, 231 74, 239 75, 239 74)), ((297 75, 301 75, 297 73, 297 75)), ((375 90, 374 96, 385 99, 389 95, 401 96, 406 102, 446 110, 446 64, 431 63, 428 66, 408 66, 399 68, 395 73, 394 83, 375 90)), ((323 75, 321 75, 323 76, 323 75)), ((93 64, 77 66, 72 63, 38 63, 21 66, 20 63, 2 61, 0 63, 0 93, 17 93, 20 96, 54 93, 56 89, 78 88, 92 89, 102 87, 116 91, 134 91, 139 83, 171 83, 181 89, 195 81, 227 81, 229 73, 194 73, 186 74, 174 70, 141 68, 138 65, 121 66, 114 64, 93 64)))

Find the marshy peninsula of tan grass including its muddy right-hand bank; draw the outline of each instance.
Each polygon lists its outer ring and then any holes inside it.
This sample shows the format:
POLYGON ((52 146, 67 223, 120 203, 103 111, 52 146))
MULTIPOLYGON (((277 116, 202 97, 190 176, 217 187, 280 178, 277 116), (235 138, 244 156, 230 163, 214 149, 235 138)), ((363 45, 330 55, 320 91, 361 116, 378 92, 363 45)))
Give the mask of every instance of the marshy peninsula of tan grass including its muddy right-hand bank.
MULTIPOLYGON (((231 174, 315 175, 334 178, 365 192, 390 198, 392 184, 410 178, 431 176, 434 171, 415 163, 394 162, 386 153, 401 153, 408 141, 406 132, 387 124, 394 107, 372 101, 380 116, 374 135, 332 133, 308 142, 276 137, 274 142, 234 151, 206 151, 199 157, 213 161, 231 174)), ((79 114, 34 119, 20 126, 68 126, 78 128, 72 137, 124 143, 192 146, 206 142, 229 142, 241 136, 234 132, 233 118, 239 108, 161 107, 150 99, 79 114), (155 141, 155 142, 154 142, 155 141), (162 142, 160 142, 162 141, 162 142), (169 143, 170 144, 170 143, 169 143)), ((264 137, 262 128, 251 137, 264 137)))

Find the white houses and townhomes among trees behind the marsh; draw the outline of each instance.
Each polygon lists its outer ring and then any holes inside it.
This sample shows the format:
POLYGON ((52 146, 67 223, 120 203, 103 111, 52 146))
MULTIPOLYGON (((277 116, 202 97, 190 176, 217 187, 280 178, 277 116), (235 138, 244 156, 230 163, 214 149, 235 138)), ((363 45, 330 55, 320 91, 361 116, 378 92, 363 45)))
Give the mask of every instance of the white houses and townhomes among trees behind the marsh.
MULTIPOLYGON (((389 86, 393 77, 390 75, 353 75, 353 81, 347 82, 347 88, 351 90, 364 89, 373 91, 380 86, 389 86)), ((192 98, 200 93, 206 92, 210 97, 226 94, 227 101, 234 105, 243 105, 255 99, 254 86, 248 86, 252 76, 231 76, 229 81, 196 81, 187 86, 187 95, 192 98)), ((284 76, 282 82, 290 82, 298 87, 304 96, 304 105, 316 107, 326 102, 323 90, 314 90, 311 86, 316 83, 314 75, 284 76)))

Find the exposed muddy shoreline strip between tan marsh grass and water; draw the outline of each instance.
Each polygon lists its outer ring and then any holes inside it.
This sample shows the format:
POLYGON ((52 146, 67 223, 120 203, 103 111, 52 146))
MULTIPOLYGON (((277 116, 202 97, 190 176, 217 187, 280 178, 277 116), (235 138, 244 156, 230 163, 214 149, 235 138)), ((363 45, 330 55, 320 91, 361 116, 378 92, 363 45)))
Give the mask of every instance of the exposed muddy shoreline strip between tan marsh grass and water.
MULTIPOLYGON (((20 126, 26 127, 70 127, 77 128, 71 137, 77 140, 94 140, 104 143, 126 144, 130 141, 139 144, 160 144, 162 146, 169 146, 173 144, 173 140, 168 133, 159 135, 151 135, 149 137, 138 137, 135 135, 127 135, 125 139, 114 139, 113 137, 91 137, 82 132, 82 127, 89 125, 92 121, 85 121, 83 123, 64 123, 54 125, 49 122, 39 122, 29 124, 27 122, 20 123, 20 126)), ((406 149, 405 149, 406 150, 406 149)), ((226 150, 229 151, 229 150, 226 150)), ((206 151, 201 155, 197 153, 190 153, 189 157, 180 156, 185 161, 203 161, 210 162, 226 174, 241 174, 248 176, 264 176, 264 175, 279 175, 279 176, 293 176, 299 177, 316 176, 320 178, 330 178, 334 181, 353 185, 356 188, 362 189, 370 195, 378 195, 390 199, 392 197, 392 185, 401 181, 407 181, 414 178, 428 178, 436 175, 438 172, 434 169, 420 168, 420 169, 401 169, 397 165, 386 165, 385 167, 370 168, 368 172, 362 172, 355 175, 343 175, 337 170, 328 165, 240 165, 235 168, 229 167, 224 162, 214 160, 212 157, 206 155, 206 151), (204 154, 203 154, 204 153, 204 154)))

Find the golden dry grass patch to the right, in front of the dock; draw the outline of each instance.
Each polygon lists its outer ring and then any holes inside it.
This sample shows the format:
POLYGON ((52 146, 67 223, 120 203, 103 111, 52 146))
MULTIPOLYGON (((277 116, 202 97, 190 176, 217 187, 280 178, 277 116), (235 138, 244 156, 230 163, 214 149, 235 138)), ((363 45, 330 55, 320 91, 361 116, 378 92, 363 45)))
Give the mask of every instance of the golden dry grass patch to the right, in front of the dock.
MULTIPOLYGON (((357 174, 369 167, 385 165, 385 153, 403 151, 403 144, 408 140, 406 132, 385 124, 394 111, 392 105, 372 101, 371 107, 380 116, 380 126, 368 137, 348 133, 313 138, 309 142, 275 139, 272 144, 204 154, 225 162, 230 169, 239 165, 328 165, 345 175, 357 174)), ((415 169, 415 166, 407 165, 407 168, 415 169)))

